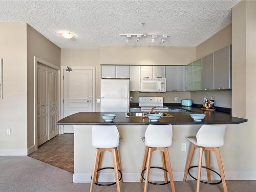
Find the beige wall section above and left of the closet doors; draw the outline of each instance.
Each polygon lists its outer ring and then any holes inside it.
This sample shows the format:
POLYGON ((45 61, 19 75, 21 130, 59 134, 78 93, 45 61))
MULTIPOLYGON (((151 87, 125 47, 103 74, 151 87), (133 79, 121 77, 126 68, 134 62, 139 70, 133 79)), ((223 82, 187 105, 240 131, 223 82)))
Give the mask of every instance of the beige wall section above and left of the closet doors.
POLYGON ((60 66, 60 48, 27 24, 28 148, 34 145, 34 56, 60 66))

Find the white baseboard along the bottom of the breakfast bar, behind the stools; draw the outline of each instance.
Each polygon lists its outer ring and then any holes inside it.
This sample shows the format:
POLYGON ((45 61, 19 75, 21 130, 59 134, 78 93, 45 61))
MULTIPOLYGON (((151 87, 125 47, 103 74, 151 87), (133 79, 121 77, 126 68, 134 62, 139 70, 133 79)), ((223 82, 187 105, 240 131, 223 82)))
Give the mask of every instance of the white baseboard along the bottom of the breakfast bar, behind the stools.
MULTIPOLYGON (((197 172, 191 173, 197 177, 197 172)), ((141 173, 122 173, 124 182, 139 182, 141 173)), ((183 181, 184 172, 174 172, 175 181, 183 181)), ((90 183, 92 174, 74 174, 74 183, 90 183)), ((226 180, 256 180, 256 172, 225 172, 226 180)), ((202 180, 207 180, 206 172, 202 172, 202 180)), ((219 180, 216 174, 211 175, 211 179, 219 180)), ((150 174, 151 181, 164 181, 164 175, 160 172, 153 172, 150 174)), ((193 180, 189 175, 187 180, 193 180)), ((115 182, 114 173, 101 173, 99 175, 99 182, 115 182)))

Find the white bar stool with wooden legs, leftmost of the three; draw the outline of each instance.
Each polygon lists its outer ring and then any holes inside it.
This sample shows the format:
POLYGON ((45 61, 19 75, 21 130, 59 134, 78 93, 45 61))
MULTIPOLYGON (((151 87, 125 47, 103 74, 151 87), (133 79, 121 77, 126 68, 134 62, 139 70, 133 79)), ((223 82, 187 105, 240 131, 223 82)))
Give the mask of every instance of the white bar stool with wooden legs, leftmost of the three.
POLYGON ((120 160, 119 160, 118 150, 117 150, 117 147, 119 146, 120 142, 121 142, 121 139, 120 139, 116 125, 93 125, 92 145, 97 149, 96 149, 96 156, 95 156, 90 192, 93 191, 94 184, 97 184, 99 186, 110 186, 110 185, 116 184, 117 191, 118 192, 121 191, 120 182, 122 182, 122 173, 121 173, 121 165, 120 165, 120 160), (115 178, 116 178, 115 183, 105 184, 105 185, 97 183, 98 176, 99 176, 98 171, 106 168, 113 169, 113 167, 100 168, 101 156, 104 151, 108 151, 112 153, 114 170, 115 170, 115 178), (118 176, 118 173, 120 174, 120 178, 118 176))

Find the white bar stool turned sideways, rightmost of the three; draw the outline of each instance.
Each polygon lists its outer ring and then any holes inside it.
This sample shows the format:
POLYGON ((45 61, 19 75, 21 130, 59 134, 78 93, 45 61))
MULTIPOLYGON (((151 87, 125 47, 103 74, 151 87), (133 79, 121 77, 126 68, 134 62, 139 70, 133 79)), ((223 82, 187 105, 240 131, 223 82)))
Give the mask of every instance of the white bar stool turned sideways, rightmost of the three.
MULTIPOLYGON (((216 154, 218 166, 220 169, 221 181, 218 182, 218 184, 222 182, 224 191, 227 192, 225 174, 224 174, 224 170, 221 162, 221 155, 219 151, 219 147, 224 145, 225 130, 226 130, 226 125, 202 125, 196 137, 186 137, 191 142, 191 147, 190 147, 190 152, 189 152, 189 156, 188 156, 188 160, 185 168, 183 181, 186 181, 187 179, 187 174, 189 172, 189 167, 190 167, 191 160, 193 158, 195 147, 198 147, 200 148, 200 155, 199 155, 199 163, 198 163, 197 192, 199 192, 199 187, 201 182, 200 180, 201 180, 201 170, 202 170, 202 157, 203 157, 204 151, 206 152, 206 167, 204 168, 207 169, 208 181, 211 181, 210 170, 212 169, 210 169, 210 151, 212 151, 212 152, 215 152, 216 154)), ((197 167, 197 166, 193 166, 193 167, 197 167)), ((203 183, 209 184, 207 182, 203 182, 203 183)))

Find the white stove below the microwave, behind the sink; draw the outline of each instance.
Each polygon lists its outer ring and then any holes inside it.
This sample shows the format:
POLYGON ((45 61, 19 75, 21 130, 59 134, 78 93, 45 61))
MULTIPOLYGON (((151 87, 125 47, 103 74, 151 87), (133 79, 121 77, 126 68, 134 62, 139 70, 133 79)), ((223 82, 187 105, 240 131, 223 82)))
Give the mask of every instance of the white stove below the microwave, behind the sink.
POLYGON ((154 108, 153 112, 169 111, 166 106, 163 106, 163 97, 139 97, 139 105, 143 112, 150 112, 152 108, 154 108))

